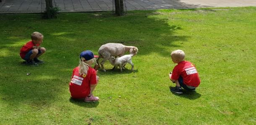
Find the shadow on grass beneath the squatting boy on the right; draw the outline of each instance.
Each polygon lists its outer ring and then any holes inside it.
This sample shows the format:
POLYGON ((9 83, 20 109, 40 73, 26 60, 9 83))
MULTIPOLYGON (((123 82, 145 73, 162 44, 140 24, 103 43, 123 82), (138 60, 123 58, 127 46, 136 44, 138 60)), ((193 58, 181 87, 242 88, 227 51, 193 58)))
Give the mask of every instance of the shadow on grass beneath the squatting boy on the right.
MULTIPOLYGON (((170 88, 170 92, 172 92, 172 91, 171 91, 172 86, 170 86, 169 88, 170 88)), ((183 89, 183 94, 177 94, 177 93, 175 93, 175 92, 172 92, 172 94, 177 95, 177 96, 179 96, 179 97, 187 98, 187 99, 189 99, 189 100, 196 100, 196 99, 198 99, 199 97, 201 97, 201 94, 200 94, 200 93, 197 93, 196 91, 190 92, 190 91, 187 91, 187 90, 184 90, 184 89, 183 89)))

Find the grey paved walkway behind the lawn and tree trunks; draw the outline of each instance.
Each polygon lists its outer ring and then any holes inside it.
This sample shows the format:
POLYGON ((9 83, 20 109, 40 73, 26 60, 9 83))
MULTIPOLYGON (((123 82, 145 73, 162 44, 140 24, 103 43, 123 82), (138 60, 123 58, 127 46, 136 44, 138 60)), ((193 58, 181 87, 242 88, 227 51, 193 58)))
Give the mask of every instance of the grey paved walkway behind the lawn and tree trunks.
MULTIPOLYGON (((112 11, 112 0, 52 0, 60 12, 112 11)), ((127 10, 256 6, 256 0, 125 0, 127 10)), ((41 13, 45 0, 2 0, 0 13, 41 13)))

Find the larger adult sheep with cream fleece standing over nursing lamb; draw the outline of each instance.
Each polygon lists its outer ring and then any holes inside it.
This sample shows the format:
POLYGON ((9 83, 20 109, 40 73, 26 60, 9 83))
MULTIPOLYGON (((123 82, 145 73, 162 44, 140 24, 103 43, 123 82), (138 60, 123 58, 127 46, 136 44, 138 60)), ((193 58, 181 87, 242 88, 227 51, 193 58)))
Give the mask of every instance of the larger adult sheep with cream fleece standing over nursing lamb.
POLYGON ((129 51, 130 54, 136 55, 138 52, 138 48, 134 46, 126 46, 120 43, 104 44, 99 48, 99 51, 98 51, 99 57, 97 59, 97 64, 100 64, 102 70, 106 72, 106 70, 104 69, 104 62, 106 60, 109 60, 111 55, 115 57, 118 57, 118 56, 121 57, 127 51, 129 51), (103 60, 99 63, 100 58, 103 58, 103 60))

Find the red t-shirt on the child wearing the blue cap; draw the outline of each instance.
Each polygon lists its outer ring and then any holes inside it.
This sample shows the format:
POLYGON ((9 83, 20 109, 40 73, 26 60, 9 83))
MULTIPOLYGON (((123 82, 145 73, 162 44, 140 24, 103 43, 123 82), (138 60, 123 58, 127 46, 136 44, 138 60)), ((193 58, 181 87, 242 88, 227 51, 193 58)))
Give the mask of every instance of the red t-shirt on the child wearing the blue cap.
POLYGON ((69 91, 73 98, 84 98, 91 92, 90 85, 96 84, 96 71, 89 67, 87 75, 79 75, 79 67, 74 68, 71 82, 69 83, 69 91))

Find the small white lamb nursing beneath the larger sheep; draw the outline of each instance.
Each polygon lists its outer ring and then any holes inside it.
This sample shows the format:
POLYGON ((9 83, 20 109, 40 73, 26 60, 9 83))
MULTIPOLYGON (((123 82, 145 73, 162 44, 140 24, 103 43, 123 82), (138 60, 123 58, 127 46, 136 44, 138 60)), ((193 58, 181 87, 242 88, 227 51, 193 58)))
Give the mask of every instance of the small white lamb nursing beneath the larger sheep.
MULTIPOLYGON (((120 72, 123 72, 122 69, 125 69, 124 65, 126 65, 127 63, 131 64, 131 71, 133 72, 134 64, 133 62, 131 62, 131 57, 133 57, 133 55, 134 54, 123 55, 121 57, 116 57, 116 58, 111 55, 109 60, 112 65, 114 65, 115 67, 118 66, 120 68, 120 72)), ((115 69, 115 67, 113 69, 115 69)))

